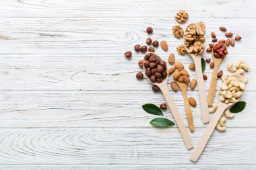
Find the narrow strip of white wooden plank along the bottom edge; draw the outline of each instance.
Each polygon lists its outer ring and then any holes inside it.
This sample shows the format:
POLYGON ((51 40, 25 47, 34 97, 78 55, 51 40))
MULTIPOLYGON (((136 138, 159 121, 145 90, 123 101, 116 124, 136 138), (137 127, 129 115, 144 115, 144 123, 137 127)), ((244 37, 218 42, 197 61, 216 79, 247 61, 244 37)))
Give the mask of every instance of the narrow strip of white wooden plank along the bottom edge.
POLYGON ((198 170, 198 169, 207 169, 207 170, 253 170, 256 169, 255 165, 0 165, 1 170, 20 170, 20 169, 30 169, 30 170, 98 170, 98 169, 106 169, 106 170, 115 170, 115 169, 123 169, 123 170, 198 170))

